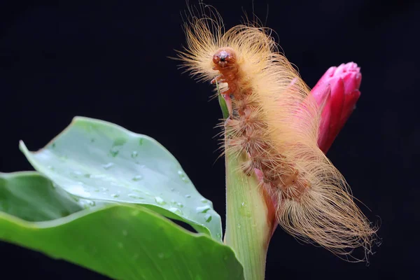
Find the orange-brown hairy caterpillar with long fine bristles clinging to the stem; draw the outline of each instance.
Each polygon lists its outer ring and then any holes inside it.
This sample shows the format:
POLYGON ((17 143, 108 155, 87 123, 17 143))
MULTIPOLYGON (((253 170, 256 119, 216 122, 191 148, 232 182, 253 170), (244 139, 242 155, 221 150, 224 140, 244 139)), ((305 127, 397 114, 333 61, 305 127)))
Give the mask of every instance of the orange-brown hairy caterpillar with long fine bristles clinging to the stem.
POLYGON ((317 146, 320 110, 299 73, 269 29, 247 23, 224 32, 218 14, 211 15, 186 22, 179 59, 193 76, 221 88, 230 113, 221 125, 225 152, 245 158, 240 172, 259 174, 286 232, 338 255, 360 246, 371 253, 376 229, 317 146))

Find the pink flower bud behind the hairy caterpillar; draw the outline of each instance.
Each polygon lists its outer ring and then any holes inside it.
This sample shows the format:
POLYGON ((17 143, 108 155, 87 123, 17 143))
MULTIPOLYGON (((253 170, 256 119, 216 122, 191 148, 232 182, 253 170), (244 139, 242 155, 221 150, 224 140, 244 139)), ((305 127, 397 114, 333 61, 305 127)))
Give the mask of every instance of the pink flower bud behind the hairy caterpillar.
POLYGON ((330 67, 311 90, 322 110, 318 146, 324 153, 353 112, 361 81, 360 67, 349 62, 330 67))

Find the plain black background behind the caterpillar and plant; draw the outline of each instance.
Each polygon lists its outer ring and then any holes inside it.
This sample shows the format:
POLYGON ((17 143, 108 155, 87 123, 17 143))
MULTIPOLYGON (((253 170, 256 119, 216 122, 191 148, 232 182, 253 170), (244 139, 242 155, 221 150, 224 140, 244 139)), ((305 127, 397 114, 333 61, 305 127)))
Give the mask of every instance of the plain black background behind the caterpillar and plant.
MULTIPOLYGON (((168 59, 185 42, 180 1, 0 4, 1 172, 31 170, 18 149, 44 146, 73 116, 100 118, 157 139, 225 216, 224 163, 215 162, 221 117, 211 87, 168 59)), ((190 1, 190 3, 197 3, 190 1)), ((226 27, 252 1, 207 1, 226 27)), ((286 57, 314 86, 328 67, 361 66, 357 109, 328 152, 353 195, 381 221, 370 266, 339 260, 277 229, 270 279, 410 279, 419 261, 419 3, 255 1, 286 57), (355 278, 357 277, 357 278, 355 278)), ((224 220, 223 220, 224 223, 224 220)), ((104 232, 104 234, 106 234, 104 232)), ((0 243, 1 279, 106 279, 41 253, 0 243), (9 276, 7 276, 9 275, 9 276), (4 277, 4 278, 3 278, 4 277)), ((217 268, 215 268, 217 269, 217 268)))

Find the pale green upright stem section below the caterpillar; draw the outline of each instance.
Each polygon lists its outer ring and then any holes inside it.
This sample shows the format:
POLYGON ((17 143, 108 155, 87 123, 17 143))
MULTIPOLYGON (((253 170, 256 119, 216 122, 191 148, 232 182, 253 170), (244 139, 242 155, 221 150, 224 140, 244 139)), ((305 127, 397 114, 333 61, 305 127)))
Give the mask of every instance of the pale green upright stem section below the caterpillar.
POLYGON ((267 204, 255 176, 239 169, 239 159, 226 155, 225 244, 232 247, 244 266, 245 280, 262 280, 272 228, 267 204))

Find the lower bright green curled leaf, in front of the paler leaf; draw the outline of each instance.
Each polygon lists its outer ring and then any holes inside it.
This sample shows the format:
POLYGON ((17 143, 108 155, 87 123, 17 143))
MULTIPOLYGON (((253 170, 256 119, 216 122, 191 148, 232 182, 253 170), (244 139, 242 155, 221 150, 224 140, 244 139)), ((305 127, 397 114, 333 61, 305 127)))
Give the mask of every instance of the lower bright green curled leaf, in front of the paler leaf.
POLYGON ((27 212, 22 213, 28 220, 41 214, 53 219, 54 213, 62 209, 80 209, 73 204, 73 198, 62 195, 42 176, 27 172, 1 174, 0 205, 9 206, 9 214, 0 212, 3 241, 68 260, 113 279, 244 279, 231 248, 207 235, 188 232, 144 207, 111 204, 52 221, 28 222, 10 215, 24 205, 24 190, 34 195, 35 202, 48 194, 43 205, 27 200, 27 212))

